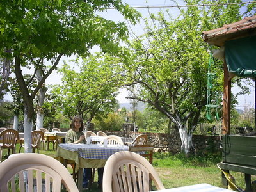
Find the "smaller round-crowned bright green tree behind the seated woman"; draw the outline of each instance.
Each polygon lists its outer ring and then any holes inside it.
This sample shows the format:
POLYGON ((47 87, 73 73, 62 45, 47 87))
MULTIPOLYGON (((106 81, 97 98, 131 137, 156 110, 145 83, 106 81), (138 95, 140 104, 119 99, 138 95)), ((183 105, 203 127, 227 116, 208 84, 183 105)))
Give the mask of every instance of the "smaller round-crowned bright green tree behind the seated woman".
POLYGON ((62 74, 61 85, 54 89, 55 102, 62 114, 72 120, 80 115, 88 125, 92 118, 104 116, 116 108, 118 84, 121 83, 120 65, 111 65, 100 54, 91 55, 83 61, 76 60, 79 72, 67 63, 59 70, 62 74))

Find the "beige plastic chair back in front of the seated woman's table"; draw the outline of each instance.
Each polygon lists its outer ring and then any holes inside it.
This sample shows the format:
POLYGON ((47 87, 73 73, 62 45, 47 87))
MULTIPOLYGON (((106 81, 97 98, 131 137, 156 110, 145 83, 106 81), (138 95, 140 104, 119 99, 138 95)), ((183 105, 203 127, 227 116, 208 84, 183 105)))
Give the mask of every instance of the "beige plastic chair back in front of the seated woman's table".
POLYGON ((116 152, 104 167, 103 192, 150 191, 151 180, 157 190, 165 189, 147 159, 134 152, 116 152))

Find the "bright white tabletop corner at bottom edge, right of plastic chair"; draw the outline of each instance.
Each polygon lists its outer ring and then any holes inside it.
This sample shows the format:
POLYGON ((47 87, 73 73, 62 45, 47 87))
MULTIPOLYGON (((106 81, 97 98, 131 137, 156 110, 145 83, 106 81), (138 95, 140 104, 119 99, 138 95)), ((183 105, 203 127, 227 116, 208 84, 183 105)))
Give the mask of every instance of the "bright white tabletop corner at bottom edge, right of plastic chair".
POLYGON ((196 184, 193 186, 184 186, 180 188, 164 189, 159 192, 231 192, 228 189, 218 188, 206 183, 196 184))

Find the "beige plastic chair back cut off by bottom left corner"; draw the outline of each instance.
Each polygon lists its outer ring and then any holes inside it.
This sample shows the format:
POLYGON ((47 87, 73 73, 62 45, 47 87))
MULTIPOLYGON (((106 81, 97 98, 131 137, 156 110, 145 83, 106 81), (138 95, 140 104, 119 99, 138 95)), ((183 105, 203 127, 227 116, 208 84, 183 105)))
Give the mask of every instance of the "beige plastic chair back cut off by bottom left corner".
POLYGON ((0 163, 0 191, 8 191, 8 185, 12 191, 42 191, 45 179, 45 191, 61 191, 61 184, 68 191, 78 191, 76 182, 56 159, 44 154, 15 154, 0 163), (26 172, 24 172, 26 171, 26 172), (24 173, 27 173, 24 180, 24 173), (18 178, 18 179, 17 179, 18 178), (36 186, 34 181, 36 180, 36 186))

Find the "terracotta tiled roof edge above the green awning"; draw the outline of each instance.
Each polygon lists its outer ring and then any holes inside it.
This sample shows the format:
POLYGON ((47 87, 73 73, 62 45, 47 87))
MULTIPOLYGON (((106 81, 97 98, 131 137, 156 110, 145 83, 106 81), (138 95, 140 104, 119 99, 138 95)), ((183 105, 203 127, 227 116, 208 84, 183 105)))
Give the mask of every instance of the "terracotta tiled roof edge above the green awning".
POLYGON ((225 24, 222 28, 203 31, 202 33, 202 38, 205 42, 221 47, 228 40, 256 35, 256 15, 245 17, 243 20, 232 24, 225 24))

